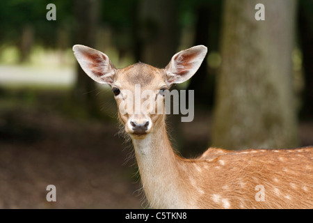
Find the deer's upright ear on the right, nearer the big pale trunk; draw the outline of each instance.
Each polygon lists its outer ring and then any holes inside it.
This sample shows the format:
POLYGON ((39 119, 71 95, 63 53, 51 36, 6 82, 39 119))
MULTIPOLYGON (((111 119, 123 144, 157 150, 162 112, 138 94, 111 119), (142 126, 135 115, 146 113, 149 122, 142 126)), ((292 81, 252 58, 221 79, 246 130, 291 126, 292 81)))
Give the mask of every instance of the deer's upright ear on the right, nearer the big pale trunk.
POLYGON ((170 87, 172 84, 180 84, 191 78, 200 68, 200 65, 207 54, 207 47, 198 45, 178 52, 168 66, 166 66, 166 84, 170 87))

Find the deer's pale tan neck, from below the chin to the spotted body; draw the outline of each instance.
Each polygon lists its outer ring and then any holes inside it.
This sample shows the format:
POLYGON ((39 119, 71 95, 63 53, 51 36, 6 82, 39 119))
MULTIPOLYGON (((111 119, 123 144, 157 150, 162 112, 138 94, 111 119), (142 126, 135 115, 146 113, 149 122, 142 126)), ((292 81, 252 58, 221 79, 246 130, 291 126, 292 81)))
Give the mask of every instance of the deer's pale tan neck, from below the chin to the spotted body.
POLYGON ((133 139, 145 196, 153 208, 184 208, 179 157, 172 151, 164 120, 144 139, 133 139))

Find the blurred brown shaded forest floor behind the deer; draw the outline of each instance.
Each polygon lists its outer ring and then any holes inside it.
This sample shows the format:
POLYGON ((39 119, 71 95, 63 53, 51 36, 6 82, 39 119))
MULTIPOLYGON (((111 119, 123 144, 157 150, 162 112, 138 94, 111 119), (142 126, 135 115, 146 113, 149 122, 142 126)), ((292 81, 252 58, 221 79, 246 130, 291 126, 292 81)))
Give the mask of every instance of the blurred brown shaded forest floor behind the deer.
MULTIPOLYGON (((74 118, 59 109, 63 98, 0 93, 0 208, 145 208, 132 147, 116 122, 74 118), (56 186, 56 202, 47 201, 47 185, 56 186)), ((182 126, 186 145, 204 151, 209 123, 196 111, 182 126)), ((313 122, 300 123, 300 140, 313 144, 313 122)))

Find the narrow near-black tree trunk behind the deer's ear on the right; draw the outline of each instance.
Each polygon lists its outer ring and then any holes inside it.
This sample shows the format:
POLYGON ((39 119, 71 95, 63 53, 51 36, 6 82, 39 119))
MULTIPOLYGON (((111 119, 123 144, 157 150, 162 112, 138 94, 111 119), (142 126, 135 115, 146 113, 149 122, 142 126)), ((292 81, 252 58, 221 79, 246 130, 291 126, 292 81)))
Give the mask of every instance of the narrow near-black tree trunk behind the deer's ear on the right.
MULTIPOLYGON (((222 1, 215 0, 202 3, 196 9, 194 45, 205 45, 209 52, 219 50, 221 6, 222 1)), ((213 106, 215 77, 216 69, 208 68, 206 57, 188 86, 188 90, 196 90, 195 105, 213 106)))

